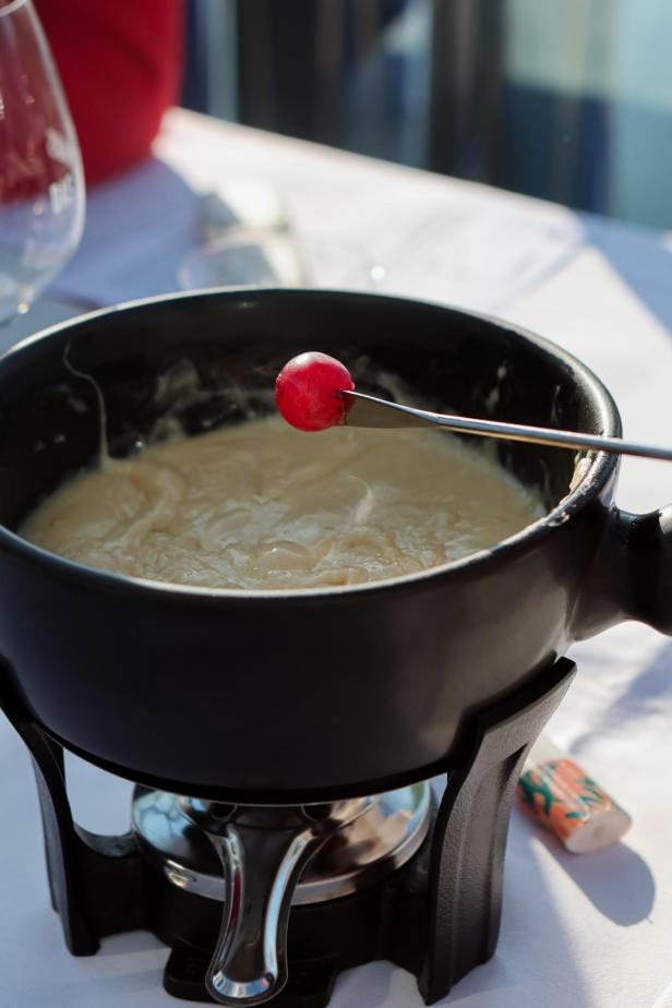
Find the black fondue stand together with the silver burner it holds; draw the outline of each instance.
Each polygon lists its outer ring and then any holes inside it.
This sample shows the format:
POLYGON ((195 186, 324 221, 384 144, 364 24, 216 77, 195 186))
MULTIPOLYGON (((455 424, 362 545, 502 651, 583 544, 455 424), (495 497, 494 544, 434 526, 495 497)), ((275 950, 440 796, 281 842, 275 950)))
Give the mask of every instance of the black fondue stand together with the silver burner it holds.
POLYGON ((377 795, 278 806, 145 782, 121 837, 73 821, 62 746, 0 676, 33 757, 68 948, 91 956, 107 935, 148 929, 170 948, 166 991, 193 1001, 323 1008, 339 970, 374 959, 439 1000, 494 952, 515 785, 573 674, 560 659, 473 711, 458 755, 424 775, 447 775, 439 805, 412 775, 377 795))

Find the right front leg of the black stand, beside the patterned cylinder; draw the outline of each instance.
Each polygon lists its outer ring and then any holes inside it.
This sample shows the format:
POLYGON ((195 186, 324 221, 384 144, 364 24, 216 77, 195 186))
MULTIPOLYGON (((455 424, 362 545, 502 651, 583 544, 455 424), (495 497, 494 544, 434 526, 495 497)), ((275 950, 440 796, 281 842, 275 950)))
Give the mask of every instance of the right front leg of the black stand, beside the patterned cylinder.
POLYGON ((429 937, 418 981, 428 1005, 495 950, 516 783, 574 672, 574 663, 561 659, 538 676, 536 691, 478 715, 465 764, 448 773, 432 838, 429 937))

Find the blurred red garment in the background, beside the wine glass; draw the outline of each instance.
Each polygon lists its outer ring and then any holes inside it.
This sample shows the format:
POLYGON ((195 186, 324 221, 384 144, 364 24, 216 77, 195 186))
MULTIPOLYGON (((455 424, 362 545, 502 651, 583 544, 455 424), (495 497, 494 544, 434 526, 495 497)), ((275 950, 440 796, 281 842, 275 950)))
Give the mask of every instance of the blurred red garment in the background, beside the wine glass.
POLYGON ((182 0, 35 0, 87 182, 145 158, 179 97, 182 0))

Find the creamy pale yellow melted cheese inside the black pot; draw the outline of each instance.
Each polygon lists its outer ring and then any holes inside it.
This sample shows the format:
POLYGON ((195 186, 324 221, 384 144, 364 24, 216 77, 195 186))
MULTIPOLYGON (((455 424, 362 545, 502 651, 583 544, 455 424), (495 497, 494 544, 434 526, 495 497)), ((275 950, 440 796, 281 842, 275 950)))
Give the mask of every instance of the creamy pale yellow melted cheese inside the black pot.
POLYGON ((132 577, 300 589, 433 567, 543 513, 503 468, 451 434, 304 434, 268 418, 107 459, 56 491, 21 533, 132 577))

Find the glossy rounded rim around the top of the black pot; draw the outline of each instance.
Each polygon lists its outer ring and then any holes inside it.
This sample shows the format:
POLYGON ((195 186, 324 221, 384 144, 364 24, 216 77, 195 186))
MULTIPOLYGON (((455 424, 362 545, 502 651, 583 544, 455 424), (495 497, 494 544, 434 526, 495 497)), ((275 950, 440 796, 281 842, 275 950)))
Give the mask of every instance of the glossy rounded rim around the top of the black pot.
MULTIPOLYGON (((75 329, 79 325, 89 324, 96 319, 112 315, 118 312, 124 312, 129 309, 151 308, 155 304, 164 304, 170 301, 182 302, 189 301, 191 299, 203 299, 206 297, 221 298, 223 296, 226 296, 228 299, 228 296, 236 298, 241 293, 252 295, 254 299, 263 299, 268 297, 295 298, 297 295, 302 297, 308 295, 311 298, 320 298, 321 296, 332 298, 334 296, 343 296, 353 300, 365 299, 367 301, 377 300, 382 302, 394 303, 404 302, 406 304, 410 303, 425 308, 445 309, 454 315, 464 315, 465 319, 469 320, 481 320, 483 322, 495 325, 500 329, 505 329, 509 333, 513 333, 516 337, 523 337, 525 341, 531 343, 533 346, 537 346, 547 353, 550 353, 556 360, 563 362, 568 368, 568 370, 578 372, 583 386, 589 388, 591 399, 595 406, 599 409, 603 427, 601 433, 612 436, 619 436, 621 434, 621 418, 617 407, 609 389, 578 358, 575 358, 572 353, 567 352, 562 347, 559 347, 550 339, 539 336, 523 326, 518 326, 504 320, 497 319, 494 315, 490 315, 483 312, 467 311, 437 301, 368 292, 360 293, 355 291, 326 288, 319 290, 307 290, 301 288, 259 288, 249 286, 236 288, 208 288, 205 290, 193 290, 187 292, 178 291, 175 293, 158 295, 151 298, 142 298, 139 300, 113 304, 108 308, 103 308, 82 315, 76 315, 74 319, 69 319, 64 322, 59 322, 56 325, 41 329, 40 332, 27 336, 19 343, 14 344, 2 355, 0 355, 0 380, 2 364, 7 359, 12 358, 17 353, 22 353, 29 347, 40 344, 44 340, 47 340, 58 335, 59 333, 62 333, 63 331, 75 329)), ((559 448, 557 451, 572 449, 559 448)), ((285 589, 205 588, 196 585, 183 585, 172 581, 158 581, 141 577, 129 577, 127 575, 116 574, 111 571, 105 571, 103 568, 91 567, 86 564, 76 563, 75 561, 69 560, 64 556, 59 556, 56 553, 51 553, 41 547, 37 547, 34 543, 28 542, 17 532, 13 532, 2 524, 0 524, 0 547, 7 548, 11 552, 24 557, 25 560, 35 561, 46 565, 56 576, 62 576, 72 579, 84 579, 89 585, 93 579, 93 581, 99 585, 101 589, 116 589, 120 592, 142 592, 143 595, 148 593, 155 595, 157 597, 165 595, 172 599, 182 598, 188 600, 209 598, 213 600, 221 599, 223 601, 226 600, 231 602, 238 600, 244 603, 259 603, 261 607, 268 602, 277 603, 278 601, 281 601, 286 604, 291 604, 292 601, 296 600, 298 604, 310 599, 314 599, 316 601, 319 599, 324 599, 325 597, 332 599, 340 597, 351 598, 353 595, 364 592, 369 593, 372 591, 381 592, 401 590, 413 585, 419 585, 419 583, 433 581, 435 578, 458 575, 461 572, 471 571, 479 565, 499 565, 500 563, 511 559, 511 556, 519 549, 529 547, 532 543, 537 543, 544 539, 554 529, 564 525, 573 517, 573 515, 575 515, 587 503, 589 503, 596 496, 596 494, 599 493, 600 489, 605 484, 605 482, 619 466, 617 456, 605 452, 588 453, 587 457, 590 457, 590 466, 571 493, 567 493, 567 495, 563 497, 562 501, 542 518, 537 519, 537 521, 533 521, 530 525, 526 525, 525 528, 523 528, 520 531, 507 537, 506 539, 503 539, 494 547, 488 550, 479 550, 475 553, 469 553, 464 557, 449 561, 444 564, 427 567, 425 569, 415 572, 413 574, 379 578, 357 585, 339 585, 324 588, 285 589)))

